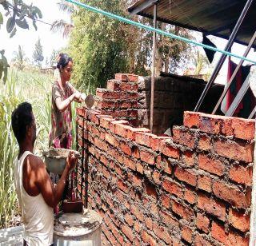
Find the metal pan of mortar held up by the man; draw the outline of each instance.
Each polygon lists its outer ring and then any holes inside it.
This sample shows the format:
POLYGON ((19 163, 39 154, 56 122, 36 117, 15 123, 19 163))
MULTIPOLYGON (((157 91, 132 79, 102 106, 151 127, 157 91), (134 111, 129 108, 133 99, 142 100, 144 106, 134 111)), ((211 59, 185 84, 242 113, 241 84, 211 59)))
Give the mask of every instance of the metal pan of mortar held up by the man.
POLYGON ((72 149, 49 149, 42 153, 45 159, 46 169, 50 173, 62 174, 66 166, 66 157, 73 151, 76 156, 79 156, 78 151, 72 149))

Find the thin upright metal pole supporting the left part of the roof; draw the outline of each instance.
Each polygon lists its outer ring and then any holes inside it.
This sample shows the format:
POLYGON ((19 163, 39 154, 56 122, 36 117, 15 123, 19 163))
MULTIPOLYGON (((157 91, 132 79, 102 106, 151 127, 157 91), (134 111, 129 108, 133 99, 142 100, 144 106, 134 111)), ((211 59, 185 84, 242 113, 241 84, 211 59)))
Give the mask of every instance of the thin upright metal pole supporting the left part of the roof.
MULTIPOLYGON (((154 28, 157 27, 157 5, 154 4, 154 28)), ((157 34, 153 33, 153 54, 152 54, 152 73, 151 73, 151 97, 150 97, 150 131, 153 133, 153 117, 154 117, 154 81, 155 81, 155 50, 157 42, 157 34)))

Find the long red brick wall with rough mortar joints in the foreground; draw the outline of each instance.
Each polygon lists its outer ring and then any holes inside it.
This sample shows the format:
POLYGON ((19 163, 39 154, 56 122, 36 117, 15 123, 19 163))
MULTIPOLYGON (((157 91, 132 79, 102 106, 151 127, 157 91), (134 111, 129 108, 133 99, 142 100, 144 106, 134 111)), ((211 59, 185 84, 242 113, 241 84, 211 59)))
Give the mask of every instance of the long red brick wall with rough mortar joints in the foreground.
POLYGON ((171 138, 104 113, 77 109, 78 191, 103 244, 248 244, 254 121, 185 112, 171 138))

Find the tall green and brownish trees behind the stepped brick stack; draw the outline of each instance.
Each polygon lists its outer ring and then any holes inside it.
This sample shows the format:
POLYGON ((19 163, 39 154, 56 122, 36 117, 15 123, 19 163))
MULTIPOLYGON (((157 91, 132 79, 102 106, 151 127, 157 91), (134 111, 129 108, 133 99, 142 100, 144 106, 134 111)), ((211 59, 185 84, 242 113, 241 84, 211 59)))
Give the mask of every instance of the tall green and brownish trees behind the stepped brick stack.
MULTIPOLYGON (((131 18, 126 13, 130 1, 83 0, 87 5, 131 18)), ((153 26, 147 18, 135 15, 136 22, 153 26)), ((70 36, 70 55, 74 58, 74 81, 78 85, 104 86, 114 73, 150 74, 152 33, 79 8, 73 13, 74 29, 70 36)), ((192 38, 190 31, 159 23, 158 28, 192 38)), ((158 35, 157 73, 174 72, 190 57, 190 46, 158 35)))

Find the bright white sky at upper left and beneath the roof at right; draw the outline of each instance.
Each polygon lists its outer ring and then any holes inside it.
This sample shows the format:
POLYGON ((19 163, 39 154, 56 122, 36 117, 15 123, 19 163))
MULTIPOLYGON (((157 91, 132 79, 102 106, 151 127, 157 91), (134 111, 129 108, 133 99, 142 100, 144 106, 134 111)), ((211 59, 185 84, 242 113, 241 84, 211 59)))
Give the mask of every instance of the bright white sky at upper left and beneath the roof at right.
MULTIPOLYGON (((38 6, 42 11, 42 21, 52 23, 57 19, 64 19, 70 22, 70 15, 63 13, 58 9, 59 0, 24 0, 27 4, 33 2, 34 6, 38 6)), ((23 47, 23 50, 26 53, 26 57, 32 60, 32 54, 34 51, 35 42, 37 42, 38 38, 41 39, 42 50, 44 57, 50 58, 50 54, 52 50, 60 50, 62 47, 65 47, 68 43, 67 38, 63 38, 61 33, 53 33, 50 31, 50 26, 43 24, 41 22, 37 22, 38 31, 34 30, 32 23, 30 22, 30 30, 21 30, 18 28, 17 33, 13 38, 10 38, 10 34, 6 31, 6 25, 3 25, 0 29, 0 50, 6 50, 6 58, 8 61, 14 57, 14 51, 18 50, 18 45, 23 47)), ((210 37, 210 39, 212 39, 210 37)), ((218 49, 224 50, 226 46, 226 40, 222 38, 214 38, 212 39, 218 49)), ((202 48, 199 48, 202 50, 202 48)), ((239 54, 242 56, 244 51, 246 50, 246 46, 234 44, 232 48, 232 52, 235 54, 239 54)), ((202 51, 203 53, 203 51, 202 51)), ((215 64, 220 58, 220 54, 215 54, 214 62, 215 64)), ((248 58, 252 60, 256 60, 256 53, 252 50, 248 55, 248 58)), ((232 58, 234 62, 239 62, 237 58, 232 58)), ((248 62, 244 62, 246 65, 248 62)), ((43 62, 44 64, 44 62, 43 62)), ((222 67, 221 75, 218 77, 218 80, 222 82, 225 80, 227 70, 227 62, 222 67)), ((225 81, 224 81, 225 82, 225 81)))

